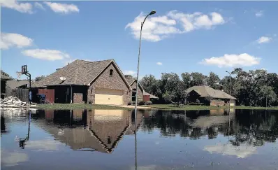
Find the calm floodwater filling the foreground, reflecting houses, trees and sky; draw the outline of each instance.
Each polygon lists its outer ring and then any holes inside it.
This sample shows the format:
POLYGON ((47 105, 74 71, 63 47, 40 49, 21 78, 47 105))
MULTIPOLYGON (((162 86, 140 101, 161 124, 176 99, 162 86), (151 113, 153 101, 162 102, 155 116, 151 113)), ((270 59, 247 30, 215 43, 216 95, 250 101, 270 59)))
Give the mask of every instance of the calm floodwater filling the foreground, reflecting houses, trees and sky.
POLYGON ((278 111, 1 110, 1 169, 277 170, 277 138, 278 111))

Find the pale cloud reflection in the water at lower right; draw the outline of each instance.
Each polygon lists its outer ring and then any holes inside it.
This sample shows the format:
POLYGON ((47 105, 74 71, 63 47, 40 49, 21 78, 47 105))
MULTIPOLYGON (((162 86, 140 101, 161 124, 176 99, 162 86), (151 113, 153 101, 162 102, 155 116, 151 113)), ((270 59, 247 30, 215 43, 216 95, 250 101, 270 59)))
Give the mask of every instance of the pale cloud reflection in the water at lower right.
POLYGON ((205 146, 203 150, 210 153, 220 153, 222 155, 237 156, 238 158, 248 157, 256 153, 256 147, 253 146, 233 146, 231 143, 221 144, 218 143, 216 146, 205 146))

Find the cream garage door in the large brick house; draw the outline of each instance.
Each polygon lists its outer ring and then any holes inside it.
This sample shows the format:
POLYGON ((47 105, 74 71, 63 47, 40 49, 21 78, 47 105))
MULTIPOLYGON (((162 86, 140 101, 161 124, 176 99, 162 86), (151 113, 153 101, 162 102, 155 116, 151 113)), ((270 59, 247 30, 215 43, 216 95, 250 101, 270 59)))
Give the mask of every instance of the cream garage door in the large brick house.
POLYGON ((123 104, 123 90, 96 89, 95 104, 123 104))

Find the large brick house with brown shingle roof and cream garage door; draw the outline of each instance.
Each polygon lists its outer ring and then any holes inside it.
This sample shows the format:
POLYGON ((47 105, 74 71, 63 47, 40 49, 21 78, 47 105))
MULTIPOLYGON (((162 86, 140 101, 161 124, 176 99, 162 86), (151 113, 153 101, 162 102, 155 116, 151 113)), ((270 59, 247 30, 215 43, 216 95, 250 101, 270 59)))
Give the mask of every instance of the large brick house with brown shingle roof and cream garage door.
POLYGON ((126 105, 131 86, 114 59, 88 62, 77 59, 32 85, 50 103, 126 105))

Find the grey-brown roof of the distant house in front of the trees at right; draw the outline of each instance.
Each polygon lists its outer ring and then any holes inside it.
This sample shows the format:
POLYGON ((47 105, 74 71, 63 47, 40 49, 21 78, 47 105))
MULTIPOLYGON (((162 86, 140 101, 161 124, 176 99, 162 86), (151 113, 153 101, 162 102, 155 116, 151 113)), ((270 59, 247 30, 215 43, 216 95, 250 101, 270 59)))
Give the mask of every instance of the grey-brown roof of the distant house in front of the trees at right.
MULTIPOLYGON (((193 87, 190 87, 186 90, 187 93, 194 90, 197 92, 200 97, 213 97, 215 99, 230 99, 230 95, 226 92, 222 92, 221 90, 215 90, 212 87, 209 87, 207 85, 196 85, 193 87)), ((231 96, 231 99, 236 99, 235 97, 231 96)))

